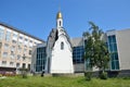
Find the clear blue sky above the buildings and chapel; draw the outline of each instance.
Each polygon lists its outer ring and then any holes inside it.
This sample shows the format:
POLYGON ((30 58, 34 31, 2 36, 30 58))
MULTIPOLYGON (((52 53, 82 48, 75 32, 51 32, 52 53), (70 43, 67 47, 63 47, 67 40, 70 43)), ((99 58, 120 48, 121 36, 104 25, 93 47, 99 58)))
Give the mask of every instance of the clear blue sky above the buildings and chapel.
POLYGON ((130 0, 0 0, 0 22, 47 40, 58 10, 70 38, 81 37, 90 21, 104 32, 130 28, 130 0))

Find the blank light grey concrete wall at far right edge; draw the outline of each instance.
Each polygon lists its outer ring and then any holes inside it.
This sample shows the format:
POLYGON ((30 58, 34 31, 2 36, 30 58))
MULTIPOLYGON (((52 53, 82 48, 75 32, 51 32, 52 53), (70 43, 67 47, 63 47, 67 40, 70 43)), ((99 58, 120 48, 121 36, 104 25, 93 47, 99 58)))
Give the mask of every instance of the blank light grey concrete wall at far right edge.
POLYGON ((120 70, 130 70, 130 29, 117 30, 116 39, 120 70))

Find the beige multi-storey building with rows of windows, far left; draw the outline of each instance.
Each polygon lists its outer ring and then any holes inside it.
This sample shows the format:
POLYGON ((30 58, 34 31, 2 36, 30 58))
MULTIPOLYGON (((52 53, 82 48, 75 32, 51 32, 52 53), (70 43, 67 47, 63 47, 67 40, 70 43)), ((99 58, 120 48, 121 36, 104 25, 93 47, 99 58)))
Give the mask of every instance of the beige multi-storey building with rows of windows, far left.
POLYGON ((0 73, 30 69, 32 47, 42 42, 42 39, 0 23, 0 73))

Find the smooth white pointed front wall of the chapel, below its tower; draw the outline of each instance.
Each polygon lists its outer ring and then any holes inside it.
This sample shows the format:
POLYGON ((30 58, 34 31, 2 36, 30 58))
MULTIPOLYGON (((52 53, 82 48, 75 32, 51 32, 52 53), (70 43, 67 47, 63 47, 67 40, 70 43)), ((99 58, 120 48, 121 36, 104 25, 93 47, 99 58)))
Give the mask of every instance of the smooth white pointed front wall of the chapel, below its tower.
POLYGON ((58 37, 53 47, 50 73, 74 73, 72 48, 64 35, 58 37))

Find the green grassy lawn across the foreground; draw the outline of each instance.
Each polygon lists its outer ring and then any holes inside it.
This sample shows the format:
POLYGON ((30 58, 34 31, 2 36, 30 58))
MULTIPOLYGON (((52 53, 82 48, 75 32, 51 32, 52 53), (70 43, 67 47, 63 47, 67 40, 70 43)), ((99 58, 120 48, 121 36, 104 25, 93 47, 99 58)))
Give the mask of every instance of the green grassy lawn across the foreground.
POLYGON ((0 79, 0 87, 130 87, 130 79, 108 78, 107 80, 83 77, 8 77, 0 79))

